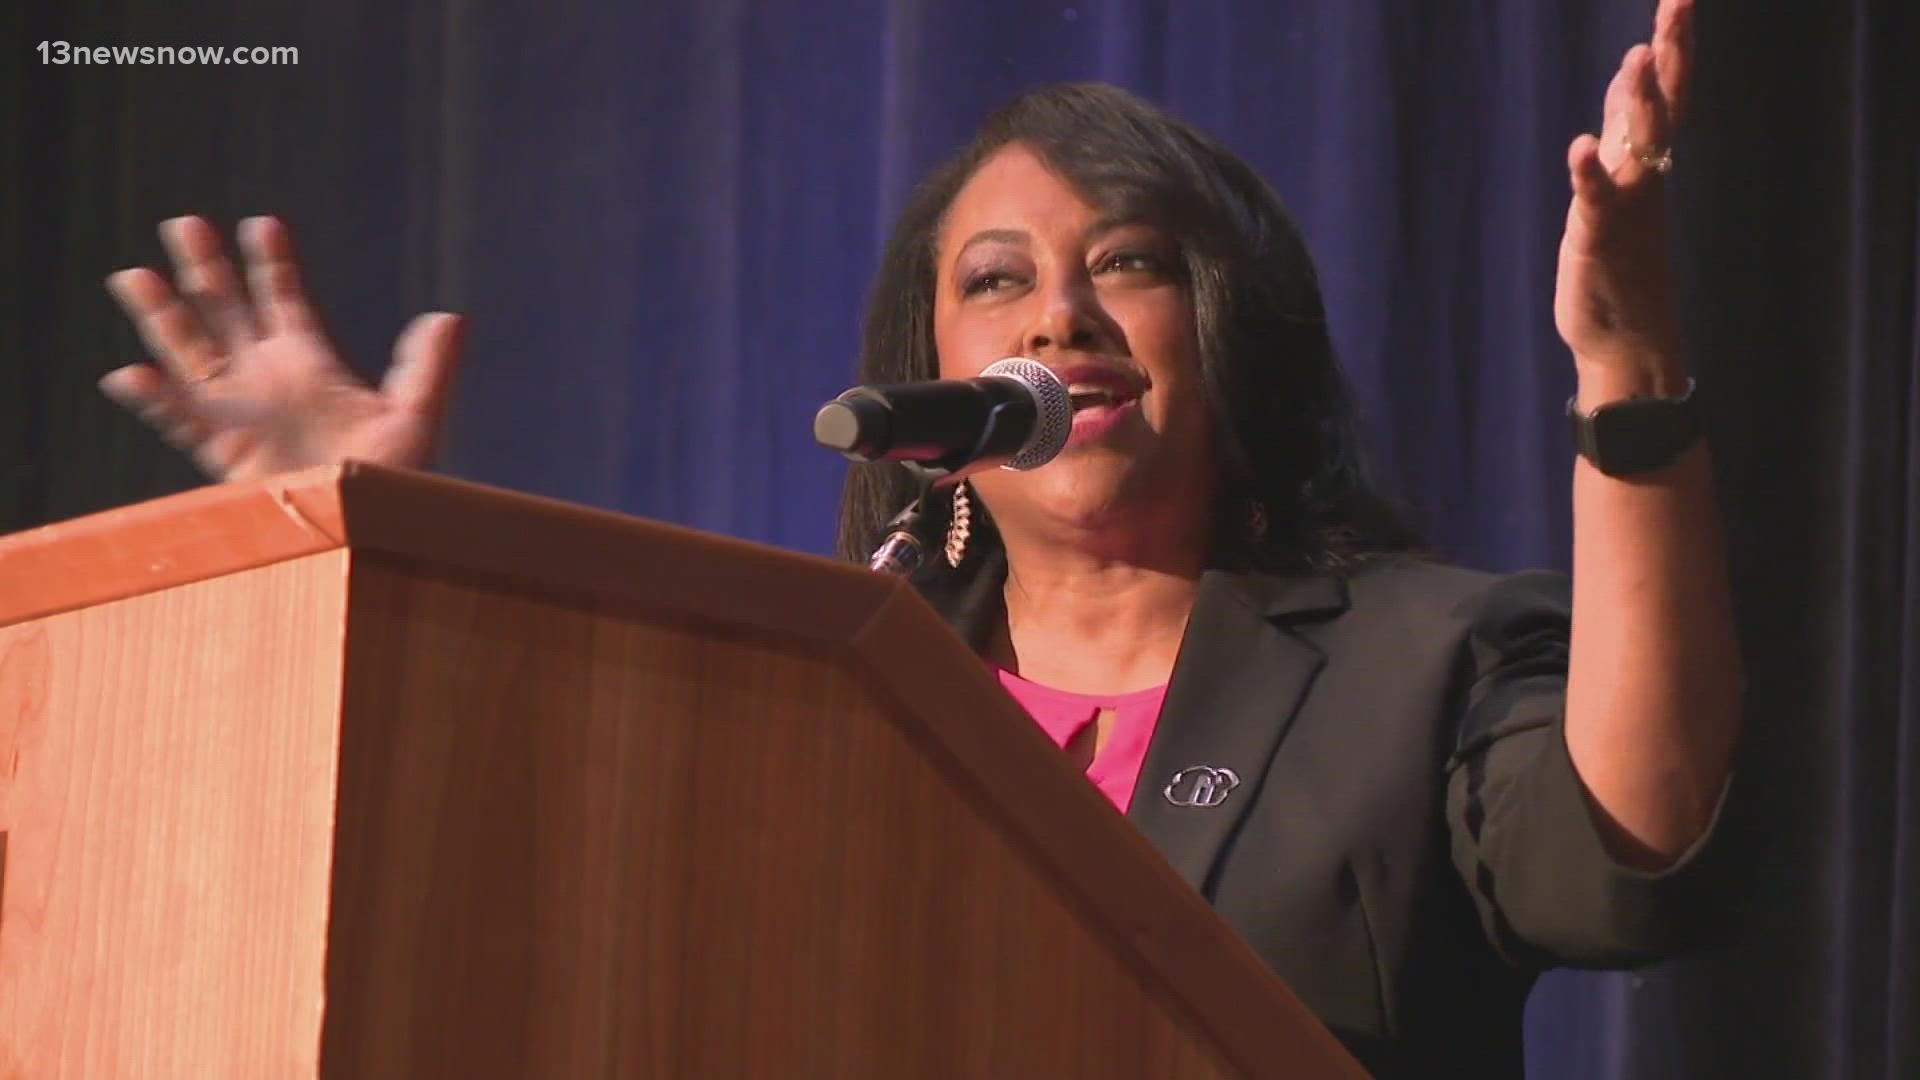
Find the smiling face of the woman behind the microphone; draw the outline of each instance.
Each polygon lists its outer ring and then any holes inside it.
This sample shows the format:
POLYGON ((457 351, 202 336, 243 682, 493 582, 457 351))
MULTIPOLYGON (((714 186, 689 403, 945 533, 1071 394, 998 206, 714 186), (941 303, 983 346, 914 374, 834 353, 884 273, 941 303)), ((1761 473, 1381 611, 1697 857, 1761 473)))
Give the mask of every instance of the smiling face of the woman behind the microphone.
POLYGON ((935 252, 941 377, 972 379, 1025 356, 1071 390, 1106 394, 1075 413, 1060 457, 1029 473, 973 477, 1002 530, 1206 513, 1210 421, 1179 259, 1173 236, 1104 219, 1020 144, 960 188, 935 252))

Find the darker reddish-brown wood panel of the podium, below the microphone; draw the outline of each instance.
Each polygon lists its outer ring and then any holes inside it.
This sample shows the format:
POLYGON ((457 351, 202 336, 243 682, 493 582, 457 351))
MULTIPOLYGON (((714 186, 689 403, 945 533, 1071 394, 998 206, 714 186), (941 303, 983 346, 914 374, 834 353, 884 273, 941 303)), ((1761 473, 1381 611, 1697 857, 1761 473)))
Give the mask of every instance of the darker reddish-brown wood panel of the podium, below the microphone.
POLYGON ((1229 1074, 845 665, 374 563, 326 1074, 1229 1074))

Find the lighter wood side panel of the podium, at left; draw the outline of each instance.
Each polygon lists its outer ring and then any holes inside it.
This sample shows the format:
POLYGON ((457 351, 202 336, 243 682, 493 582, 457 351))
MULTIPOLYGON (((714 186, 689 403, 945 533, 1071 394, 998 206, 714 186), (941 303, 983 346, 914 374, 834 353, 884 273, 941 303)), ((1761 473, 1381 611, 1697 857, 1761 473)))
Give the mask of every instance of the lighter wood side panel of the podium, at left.
POLYGON ((0 628, 0 1076, 311 1076, 344 550, 0 628))

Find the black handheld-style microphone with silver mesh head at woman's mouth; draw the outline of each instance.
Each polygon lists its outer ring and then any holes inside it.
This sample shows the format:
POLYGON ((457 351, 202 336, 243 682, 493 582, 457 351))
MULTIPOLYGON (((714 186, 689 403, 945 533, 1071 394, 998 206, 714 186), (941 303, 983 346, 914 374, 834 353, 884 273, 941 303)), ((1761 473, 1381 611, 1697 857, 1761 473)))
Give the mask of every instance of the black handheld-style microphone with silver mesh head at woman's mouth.
POLYGON ((1044 363, 1014 356, 977 379, 854 386, 814 415, 814 442, 852 461, 1039 469, 1073 430, 1068 388, 1044 363))

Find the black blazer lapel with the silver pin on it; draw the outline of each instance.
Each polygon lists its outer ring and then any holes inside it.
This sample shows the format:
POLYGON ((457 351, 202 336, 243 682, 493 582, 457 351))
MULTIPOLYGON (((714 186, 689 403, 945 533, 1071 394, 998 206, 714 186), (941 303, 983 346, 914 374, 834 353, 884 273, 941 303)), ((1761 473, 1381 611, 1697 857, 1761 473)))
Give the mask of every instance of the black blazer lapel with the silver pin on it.
POLYGON ((1294 626, 1346 605, 1334 575, 1200 580, 1127 817, 1202 894, 1327 659, 1294 626))

